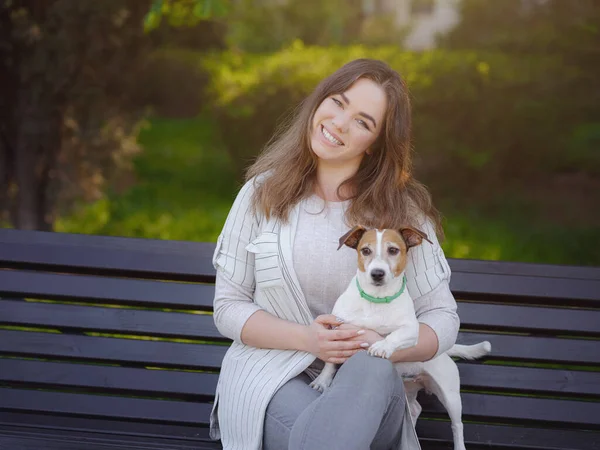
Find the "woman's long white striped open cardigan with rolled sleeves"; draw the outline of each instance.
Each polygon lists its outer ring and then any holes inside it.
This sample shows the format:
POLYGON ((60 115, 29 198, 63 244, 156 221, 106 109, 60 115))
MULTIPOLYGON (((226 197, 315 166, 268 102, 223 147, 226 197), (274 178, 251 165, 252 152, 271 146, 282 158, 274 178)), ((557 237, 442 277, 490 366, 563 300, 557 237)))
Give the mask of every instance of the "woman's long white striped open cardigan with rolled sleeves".
MULTIPOLYGON (((286 224, 266 220, 252 213, 253 191, 253 180, 240 190, 213 256, 214 320, 233 340, 223 359, 211 414, 211 437, 221 439, 225 450, 262 448, 265 411, 273 394, 315 359, 301 351, 259 349, 241 341, 246 320, 259 309, 301 324, 313 321, 292 266, 298 209, 292 209, 286 224)), ((431 223, 425 222, 423 231, 434 245, 411 250, 407 289, 419 321, 438 336, 439 354, 454 344, 459 321, 448 287, 450 268, 431 223)), ((407 432, 402 433, 400 450, 420 448, 408 409, 403 429, 407 432)))

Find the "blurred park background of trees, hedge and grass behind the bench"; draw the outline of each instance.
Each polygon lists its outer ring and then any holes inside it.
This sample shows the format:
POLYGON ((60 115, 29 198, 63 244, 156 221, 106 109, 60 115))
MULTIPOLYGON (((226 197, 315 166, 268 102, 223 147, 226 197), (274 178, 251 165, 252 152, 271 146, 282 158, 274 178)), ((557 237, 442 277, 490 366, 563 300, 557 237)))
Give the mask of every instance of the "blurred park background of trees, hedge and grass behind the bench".
POLYGON ((0 226, 214 241, 360 57, 408 81, 447 256, 600 266, 598 0, 0 0, 0 226))

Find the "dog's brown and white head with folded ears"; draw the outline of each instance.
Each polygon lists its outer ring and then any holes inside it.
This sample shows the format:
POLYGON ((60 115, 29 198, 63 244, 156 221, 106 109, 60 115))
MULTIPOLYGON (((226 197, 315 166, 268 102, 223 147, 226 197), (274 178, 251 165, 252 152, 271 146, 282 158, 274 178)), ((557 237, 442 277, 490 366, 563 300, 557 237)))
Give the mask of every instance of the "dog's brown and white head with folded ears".
POLYGON ((420 245, 427 235, 413 227, 398 230, 367 230, 355 226, 340 238, 338 250, 347 245, 358 254, 358 269, 375 286, 383 286, 404 272, 406 256, 411 247, 420 245))

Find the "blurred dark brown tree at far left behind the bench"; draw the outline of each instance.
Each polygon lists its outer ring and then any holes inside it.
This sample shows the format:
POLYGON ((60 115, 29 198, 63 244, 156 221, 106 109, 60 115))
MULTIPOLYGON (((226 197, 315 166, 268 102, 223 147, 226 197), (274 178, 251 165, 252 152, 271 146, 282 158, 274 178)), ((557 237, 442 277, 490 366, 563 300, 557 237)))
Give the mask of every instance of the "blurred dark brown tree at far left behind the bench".
POLYGON ((148 31, 225 4, 0 0, 0 223, 50 230, 57 211, 98 197, 137 150, 148 31))

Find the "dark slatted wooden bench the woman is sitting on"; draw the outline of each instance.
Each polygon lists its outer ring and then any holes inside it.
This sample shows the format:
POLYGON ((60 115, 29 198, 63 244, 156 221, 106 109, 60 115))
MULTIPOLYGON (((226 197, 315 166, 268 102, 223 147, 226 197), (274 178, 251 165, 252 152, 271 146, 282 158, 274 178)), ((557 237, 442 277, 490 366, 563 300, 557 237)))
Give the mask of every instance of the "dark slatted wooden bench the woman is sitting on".
MULTIPOLYGON (((213 449, 214 244, 0 230, 0 448, 213 449)), ((600 449, 600 268, 450 260, 467 448, 600 449)), ((421 396, 424 449, 452 448, 421 396)))

